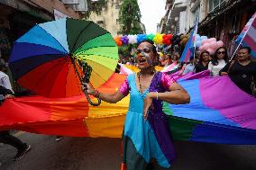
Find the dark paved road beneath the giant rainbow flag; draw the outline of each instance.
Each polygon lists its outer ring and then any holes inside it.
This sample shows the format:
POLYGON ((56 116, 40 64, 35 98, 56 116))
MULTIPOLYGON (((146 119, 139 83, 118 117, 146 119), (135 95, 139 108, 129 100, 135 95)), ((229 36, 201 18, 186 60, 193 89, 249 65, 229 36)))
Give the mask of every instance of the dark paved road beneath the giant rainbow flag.
MULTIPOLYGON (((32 151, 13 162, 15 149, 0 147, 1 170, 119 170, 120 139, 70 138, 19 132, 32 151)), ((255 170, 256 146, 176 141, 178 159, 171 170, 255 170)), ((157 168, 160 169, 160 168, 157 168)))

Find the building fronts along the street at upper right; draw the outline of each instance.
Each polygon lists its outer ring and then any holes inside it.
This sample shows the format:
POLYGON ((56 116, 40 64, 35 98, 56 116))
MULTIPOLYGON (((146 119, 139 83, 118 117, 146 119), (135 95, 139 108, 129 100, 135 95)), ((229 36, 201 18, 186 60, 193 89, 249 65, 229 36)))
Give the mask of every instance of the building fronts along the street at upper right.
POLYGON ((161 33, 187 33, 198 21, 197 33, 223 40, 228 49, 256 12, 256 0, 167 0, 166 4, 171 5, 161 20, 161 33))

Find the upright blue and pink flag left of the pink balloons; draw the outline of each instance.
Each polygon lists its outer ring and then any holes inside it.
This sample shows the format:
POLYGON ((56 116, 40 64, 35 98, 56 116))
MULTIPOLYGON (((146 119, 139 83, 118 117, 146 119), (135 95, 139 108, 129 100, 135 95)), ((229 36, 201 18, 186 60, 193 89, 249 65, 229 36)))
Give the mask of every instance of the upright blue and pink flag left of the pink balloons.
POLYGON ((196 48, 196 35, 197 35, 197 26, 198 22, 196 22, 193 31, 191 31, 191 34, 189 36, 189 39, 187 40, 187 44, 185 46, 185 49, 182 52, 181 58, 179 59, 181 62, 188 62, 189 58, 194 56, 194 50, 196 48))

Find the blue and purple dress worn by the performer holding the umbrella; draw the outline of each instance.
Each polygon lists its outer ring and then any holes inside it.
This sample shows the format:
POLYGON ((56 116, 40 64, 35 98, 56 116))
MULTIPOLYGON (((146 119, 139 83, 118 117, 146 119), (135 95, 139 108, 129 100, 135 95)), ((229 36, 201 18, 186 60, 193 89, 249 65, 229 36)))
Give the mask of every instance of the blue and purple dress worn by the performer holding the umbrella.
POLYGON ((142 94, 135 84, 135 74, 127 77, 130 88, 130 105, 123 128, 123 168, 143 170, 151 162, 157 161, 169 168, 175 158, 167 116, 162 112, 161 101, 153 100, 154 110, 143 117, 143 100, 149 92, 165 92, 160 84, 162 73, 153 76, 150 88, 142 94))

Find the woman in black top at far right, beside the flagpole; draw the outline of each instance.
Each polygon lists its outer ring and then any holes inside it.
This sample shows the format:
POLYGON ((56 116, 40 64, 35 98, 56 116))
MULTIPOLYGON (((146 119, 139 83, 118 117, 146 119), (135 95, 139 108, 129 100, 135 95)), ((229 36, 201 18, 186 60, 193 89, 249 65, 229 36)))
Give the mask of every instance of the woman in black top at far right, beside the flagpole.
POLYGON ((233 83, 247 94, 255 93, 256 63, 251 61, 251 49, 249 47, 239 49, 237 60, 228 63, 220 71, 220 75, 228 75, 233 83))

